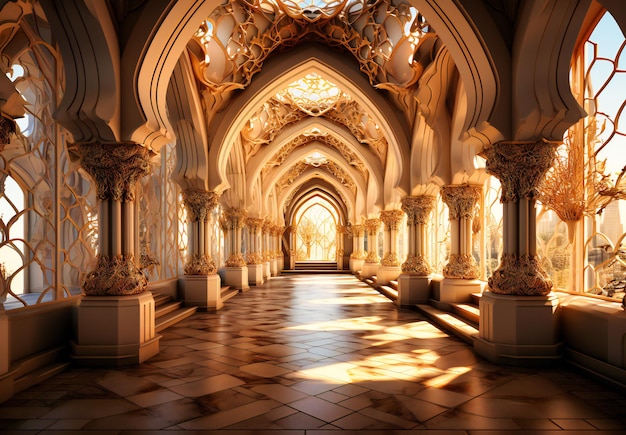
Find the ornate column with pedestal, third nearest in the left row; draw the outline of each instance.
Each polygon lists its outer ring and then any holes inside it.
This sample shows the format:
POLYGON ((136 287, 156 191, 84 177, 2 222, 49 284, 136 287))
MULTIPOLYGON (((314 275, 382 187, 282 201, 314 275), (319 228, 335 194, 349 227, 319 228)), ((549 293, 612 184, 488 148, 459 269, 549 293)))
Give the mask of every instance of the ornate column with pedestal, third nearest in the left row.
POLYGON ((249 290, 248 268, 241 252, 242 232, 245 226, 247 212, 237 208, 227 208, 222 211, 220 225, 226 233, 227 253, 224 268, 225 284, 240 290, 249 290))

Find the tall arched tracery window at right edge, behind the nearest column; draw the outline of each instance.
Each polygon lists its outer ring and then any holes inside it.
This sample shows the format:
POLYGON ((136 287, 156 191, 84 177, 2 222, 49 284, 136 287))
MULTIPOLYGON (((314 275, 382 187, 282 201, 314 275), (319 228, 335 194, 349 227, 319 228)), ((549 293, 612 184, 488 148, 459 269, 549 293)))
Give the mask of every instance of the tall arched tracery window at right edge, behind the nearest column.
POLYGON ((565 134, 547 174, 538 248, 557 289, 621 300, 626 287, 626 129, 621 120, 626 40, 597 3, 588 22, 571 69, 572 91, 587 116, 565 134))

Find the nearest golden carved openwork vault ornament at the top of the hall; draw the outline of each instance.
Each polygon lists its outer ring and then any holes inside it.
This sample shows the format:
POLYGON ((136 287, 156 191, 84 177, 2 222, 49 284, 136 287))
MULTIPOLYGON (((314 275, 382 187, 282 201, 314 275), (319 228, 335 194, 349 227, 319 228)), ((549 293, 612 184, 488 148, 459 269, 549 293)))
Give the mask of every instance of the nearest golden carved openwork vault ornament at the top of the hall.
POLYGON ((213 11, 190 54, 198 79, 216 96, 248 86, 273 51, 320 38, 350 52, 373 86, 408 87, 423 71, 418 48, 430 31, 406 1, 243 0, 213 11))

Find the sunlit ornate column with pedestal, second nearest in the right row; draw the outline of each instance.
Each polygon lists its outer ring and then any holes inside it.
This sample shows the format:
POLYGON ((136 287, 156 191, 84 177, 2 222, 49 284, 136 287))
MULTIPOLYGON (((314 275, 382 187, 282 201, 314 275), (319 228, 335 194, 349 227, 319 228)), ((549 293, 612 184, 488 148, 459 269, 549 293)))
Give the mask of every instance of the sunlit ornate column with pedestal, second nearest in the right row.
POLYGON ((450 219, 450 258, 443 268, 439 301, 468 302, 480 293, 480 271, 472 255, 472 220, 482 195, 478 186, 460 185, 441 188, 441 199, 448 206, 450 219))

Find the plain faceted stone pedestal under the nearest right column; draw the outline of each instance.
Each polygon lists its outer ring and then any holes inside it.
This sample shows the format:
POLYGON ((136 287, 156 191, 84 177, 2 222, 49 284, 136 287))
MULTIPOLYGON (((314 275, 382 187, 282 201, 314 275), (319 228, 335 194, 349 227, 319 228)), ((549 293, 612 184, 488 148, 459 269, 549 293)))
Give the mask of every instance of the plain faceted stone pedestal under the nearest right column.
POLYGON ((551 294, 511 296, 485 291, 474 350, 495 363, 545 363, 560 358, 558 307, 558 297, 551 294))

